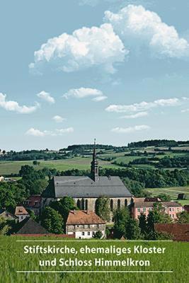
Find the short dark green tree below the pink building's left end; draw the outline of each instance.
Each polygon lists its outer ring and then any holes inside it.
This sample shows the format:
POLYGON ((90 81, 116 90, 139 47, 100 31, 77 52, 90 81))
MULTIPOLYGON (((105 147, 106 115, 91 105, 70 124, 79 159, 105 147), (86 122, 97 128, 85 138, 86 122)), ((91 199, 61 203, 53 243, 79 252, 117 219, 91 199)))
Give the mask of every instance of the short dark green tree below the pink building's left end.
POLYGON ((137 220, 130 218, 125 226, 125 238, 138 240, 141 238, 140 229, 137 220))

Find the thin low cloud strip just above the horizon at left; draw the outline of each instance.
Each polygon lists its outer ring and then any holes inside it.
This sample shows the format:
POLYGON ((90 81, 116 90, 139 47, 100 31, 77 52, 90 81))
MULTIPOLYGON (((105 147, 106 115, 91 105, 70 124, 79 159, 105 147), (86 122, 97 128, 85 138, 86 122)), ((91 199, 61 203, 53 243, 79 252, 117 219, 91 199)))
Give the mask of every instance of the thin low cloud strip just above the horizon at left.
POLYGON ((28 129, 27 132, 25 132, 26 135, 28 136, 34 136, 34 137, 46 137, 46 136, 62 136, 62 134, 65 133, 71 133, 74 132, 74 128, 73 127, 69 127, 66 129, 55 129, 55 131, 40 131, 40 129, 34 129, 34 128, 30 128, 28 129))

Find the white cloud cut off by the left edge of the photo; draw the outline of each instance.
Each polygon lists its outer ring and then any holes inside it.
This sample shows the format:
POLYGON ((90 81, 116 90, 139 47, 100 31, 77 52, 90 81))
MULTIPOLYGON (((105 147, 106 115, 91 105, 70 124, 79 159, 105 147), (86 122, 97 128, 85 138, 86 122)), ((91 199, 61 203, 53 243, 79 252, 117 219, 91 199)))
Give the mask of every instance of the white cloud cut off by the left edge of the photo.
POLYGON ((40 107, 39 103, 33 106, 19 105, 18 102, 13 100, 6 100, 6 94, 0 93, 0 107, 7 111, 15 111, 21 114, 30 114, 40 107))

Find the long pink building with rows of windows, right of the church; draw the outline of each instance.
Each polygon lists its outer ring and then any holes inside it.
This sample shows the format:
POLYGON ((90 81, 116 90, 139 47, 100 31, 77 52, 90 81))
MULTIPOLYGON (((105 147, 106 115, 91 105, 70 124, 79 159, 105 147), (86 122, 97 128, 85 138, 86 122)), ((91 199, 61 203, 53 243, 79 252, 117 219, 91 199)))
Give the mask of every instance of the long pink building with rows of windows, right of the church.
MULTIPOLYGON (((141 214, 148 216, 149 212, 154 209, 156 202, 135 202, 132 206, 132 216, 134 219, 139 219, 141 214)), ((161 203, 164 212, 172 219, 177 219, 177 214, 183 211, 181 204, 177 202, 159 202, 161 203)))

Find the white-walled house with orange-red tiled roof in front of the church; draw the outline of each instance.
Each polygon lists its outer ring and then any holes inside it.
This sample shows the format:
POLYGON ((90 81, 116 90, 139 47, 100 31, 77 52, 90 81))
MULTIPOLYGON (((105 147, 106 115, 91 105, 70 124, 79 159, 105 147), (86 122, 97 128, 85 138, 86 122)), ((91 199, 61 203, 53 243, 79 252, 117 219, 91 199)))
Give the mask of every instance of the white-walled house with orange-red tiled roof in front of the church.
POLYGON ((89 210, 71 210, 67 218, 66 233, 75 238, 93 238, 101 231, 105 236, 105 221, 96 213, 89 210))

